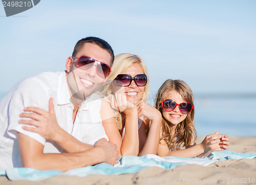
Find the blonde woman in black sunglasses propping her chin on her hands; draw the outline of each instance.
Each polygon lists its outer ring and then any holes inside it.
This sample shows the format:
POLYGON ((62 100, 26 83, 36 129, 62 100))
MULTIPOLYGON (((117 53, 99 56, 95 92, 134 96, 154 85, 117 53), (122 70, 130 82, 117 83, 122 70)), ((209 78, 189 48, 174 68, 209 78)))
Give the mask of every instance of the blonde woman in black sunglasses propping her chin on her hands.
POLYGON ((106 98, 102 100, 101 118, 106 135, 117 145, 120 155, 157 153, 161 114, 145 102, 148 91, 143 60, 131 54, 117 55, 103 90, 106 98))

